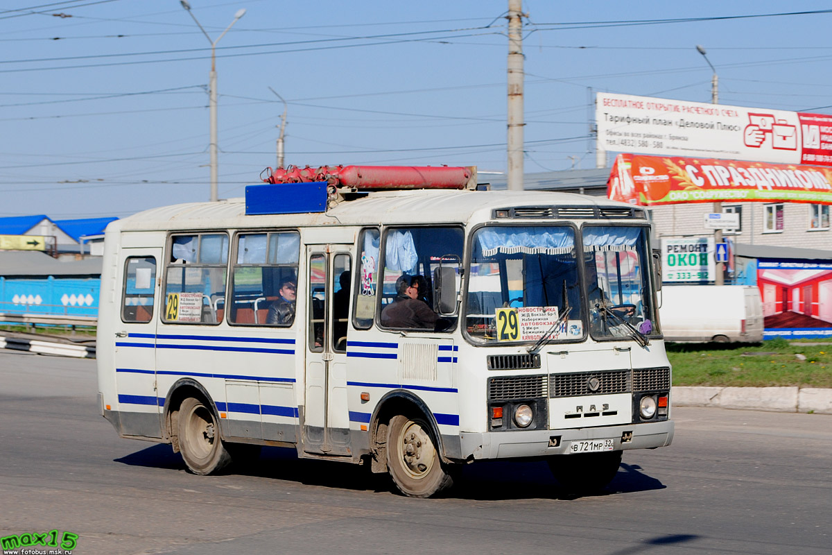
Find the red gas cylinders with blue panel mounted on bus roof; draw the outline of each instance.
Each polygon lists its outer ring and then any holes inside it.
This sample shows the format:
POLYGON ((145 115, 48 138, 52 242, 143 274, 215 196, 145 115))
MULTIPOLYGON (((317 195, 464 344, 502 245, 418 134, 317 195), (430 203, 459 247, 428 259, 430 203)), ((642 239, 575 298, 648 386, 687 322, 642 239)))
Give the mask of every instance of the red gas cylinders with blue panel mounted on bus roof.
POLYGON ((289 166, 245 187, 245 213, 323 212, 345 194, 406 189, 476 189, 475 166, 289 166))

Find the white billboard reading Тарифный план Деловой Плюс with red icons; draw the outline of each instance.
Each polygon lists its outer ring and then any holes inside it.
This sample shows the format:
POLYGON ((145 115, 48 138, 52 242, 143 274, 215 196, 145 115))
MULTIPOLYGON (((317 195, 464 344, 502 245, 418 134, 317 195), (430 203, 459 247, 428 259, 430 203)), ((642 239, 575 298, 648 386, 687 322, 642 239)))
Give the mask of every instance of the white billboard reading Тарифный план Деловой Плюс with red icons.
POLYGON ((832 116, 599 92, 598 149, 832 166, 832 116))

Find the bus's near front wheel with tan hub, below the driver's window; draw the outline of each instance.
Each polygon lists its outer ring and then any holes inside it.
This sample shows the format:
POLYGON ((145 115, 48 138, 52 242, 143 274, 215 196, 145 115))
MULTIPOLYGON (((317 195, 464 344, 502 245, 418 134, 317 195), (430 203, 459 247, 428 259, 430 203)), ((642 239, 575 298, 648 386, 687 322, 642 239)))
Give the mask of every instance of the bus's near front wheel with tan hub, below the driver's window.
POLYGON ((387 434, 387 468, 401 493, 428 498, 452 483, 444 467, 427 422, 419 418, 394 416, 387 434))

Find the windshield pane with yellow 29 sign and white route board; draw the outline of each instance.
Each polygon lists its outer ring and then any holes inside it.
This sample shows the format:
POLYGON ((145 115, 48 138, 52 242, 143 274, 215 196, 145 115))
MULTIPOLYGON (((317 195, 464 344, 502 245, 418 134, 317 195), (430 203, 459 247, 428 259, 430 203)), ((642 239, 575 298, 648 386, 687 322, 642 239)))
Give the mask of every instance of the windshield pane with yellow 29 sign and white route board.
POLYGON ((489 225, 473 232, 465 326, 478 344, 584 337, 576 231, 489 225))

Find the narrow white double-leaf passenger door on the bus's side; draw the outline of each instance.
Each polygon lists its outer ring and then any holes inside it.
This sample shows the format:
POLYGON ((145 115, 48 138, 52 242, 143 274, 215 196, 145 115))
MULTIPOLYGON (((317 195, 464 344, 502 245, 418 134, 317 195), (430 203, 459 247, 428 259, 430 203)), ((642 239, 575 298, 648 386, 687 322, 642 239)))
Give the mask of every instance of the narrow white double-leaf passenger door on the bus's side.
POLYGON ((306 384, 303 445, 307 453, 350 455, 347 329, 352 283, 350 245, 307 247, 306 384))

